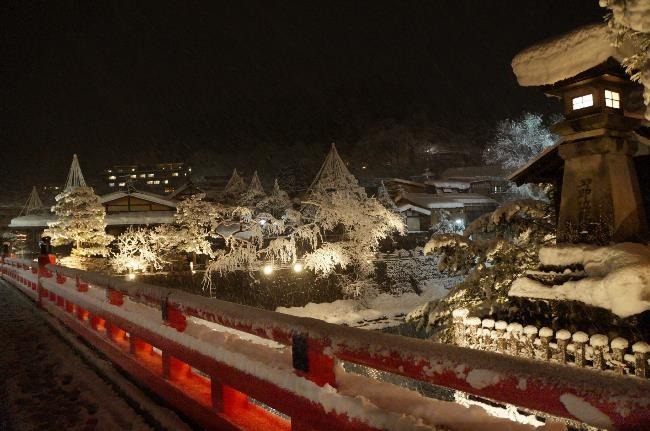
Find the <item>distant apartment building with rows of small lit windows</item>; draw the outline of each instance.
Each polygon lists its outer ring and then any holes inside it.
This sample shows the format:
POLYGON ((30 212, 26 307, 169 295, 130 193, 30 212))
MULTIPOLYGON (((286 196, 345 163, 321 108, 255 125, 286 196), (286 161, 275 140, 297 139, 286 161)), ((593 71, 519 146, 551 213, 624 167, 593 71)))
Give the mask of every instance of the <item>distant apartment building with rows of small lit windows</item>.
POLYGON ((104 171, 108 191, 133 187, 137 190, 166 195, 185 184, 192 168, 185 163, 154 165, 116 165, 104 171))

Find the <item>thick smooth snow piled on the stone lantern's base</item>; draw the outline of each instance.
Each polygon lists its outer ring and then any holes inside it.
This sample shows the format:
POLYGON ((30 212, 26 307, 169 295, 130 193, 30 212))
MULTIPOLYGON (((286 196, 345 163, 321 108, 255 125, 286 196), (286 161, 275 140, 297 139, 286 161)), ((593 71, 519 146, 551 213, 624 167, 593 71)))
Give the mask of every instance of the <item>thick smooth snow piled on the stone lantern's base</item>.
POLYGON ((546 266, 582 266, 587 278, 548 287, 515 280, 510 296, 581 301, 625 318, 650 310, 650 247, 621 243, 608 247, 564 245, 540 250, 546 266))

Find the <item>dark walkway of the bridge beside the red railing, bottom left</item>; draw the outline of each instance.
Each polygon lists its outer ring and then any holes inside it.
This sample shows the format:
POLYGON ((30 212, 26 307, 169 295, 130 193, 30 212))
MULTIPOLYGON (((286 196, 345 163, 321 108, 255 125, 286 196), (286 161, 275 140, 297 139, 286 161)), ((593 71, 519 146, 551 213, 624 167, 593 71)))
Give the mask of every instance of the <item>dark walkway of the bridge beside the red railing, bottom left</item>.
MULTIPOLYGON (((0 430, 151 429, 47 319, 0 281, 0 430)), ((172 418, 170 429, 187 429, 171 412, 155 408, 172 418)))

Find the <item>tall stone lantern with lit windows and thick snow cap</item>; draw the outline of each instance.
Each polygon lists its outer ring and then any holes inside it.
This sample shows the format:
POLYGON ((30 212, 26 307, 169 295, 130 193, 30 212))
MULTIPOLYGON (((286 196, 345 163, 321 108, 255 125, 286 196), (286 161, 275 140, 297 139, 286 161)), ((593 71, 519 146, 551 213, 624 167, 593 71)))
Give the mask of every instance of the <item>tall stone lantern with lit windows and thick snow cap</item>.
POLYGON ((620 65, 623 56, 603 26, 592 26, 530 48, 513 60, 520 83, 534 82, 564 106, 564 119, 551 127, 561 137, 555 150, 563 161, 558 242, 646 238, 633 160, 644 107, 642 102, 639 106, 640 86, 620 65))

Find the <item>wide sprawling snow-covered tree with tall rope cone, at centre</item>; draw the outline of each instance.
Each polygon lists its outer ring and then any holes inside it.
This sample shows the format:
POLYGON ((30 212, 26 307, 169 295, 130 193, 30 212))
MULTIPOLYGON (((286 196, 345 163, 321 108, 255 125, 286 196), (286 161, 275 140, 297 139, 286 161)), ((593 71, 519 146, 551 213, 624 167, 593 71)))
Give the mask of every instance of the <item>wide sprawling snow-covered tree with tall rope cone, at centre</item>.
MULTIPOLYGON (((279 187, 274 189, 272 196, 284 201, 279 187)), ((225 240, 226 249, 208 265, 208 285, 213 273, 252 272, 298 260, 319 275, 353 269, 359 280, 374 269, 379 242, 404 233, 405 225, 399 214, 365 195, 332 146, 300 211, 288 208, 275 217, 252 208, 222 208, 213 232, 225 240)))

